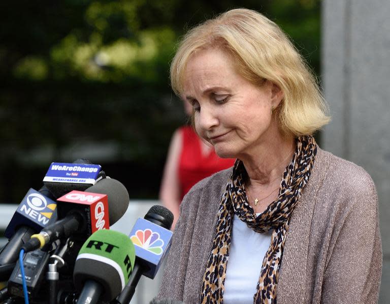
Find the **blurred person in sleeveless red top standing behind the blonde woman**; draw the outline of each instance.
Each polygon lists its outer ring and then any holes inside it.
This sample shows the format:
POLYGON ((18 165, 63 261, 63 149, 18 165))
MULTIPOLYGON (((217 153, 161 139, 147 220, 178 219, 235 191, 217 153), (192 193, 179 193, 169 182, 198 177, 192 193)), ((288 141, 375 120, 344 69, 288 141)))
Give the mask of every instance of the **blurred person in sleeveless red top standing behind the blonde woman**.
MULTIPOLYGON (((187 101, 184 109, 191 115, 192 106, 187 101)), ((172 230, 179 218, 179 205, 192 186, 215 172, 232 167, 234 162, 234 159, 218 157, 214 147, 202 140, 192 127, 184 126, 175 131, 159 193, 160 201, 173 213, 172 230)))

